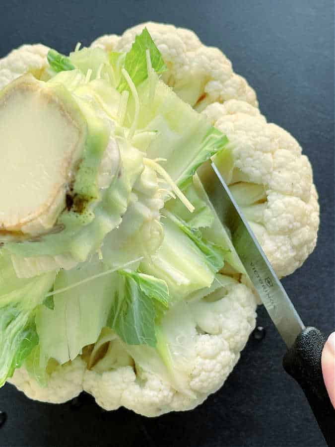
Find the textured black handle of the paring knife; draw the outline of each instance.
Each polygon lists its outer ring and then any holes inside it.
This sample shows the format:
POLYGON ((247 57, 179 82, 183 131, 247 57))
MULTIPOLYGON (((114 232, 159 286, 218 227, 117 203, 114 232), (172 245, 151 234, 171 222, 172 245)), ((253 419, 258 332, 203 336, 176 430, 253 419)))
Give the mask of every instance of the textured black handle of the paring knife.
POLYGON ((335 409, 324 383, 321 355, 326 339, 315 327, 306 327, 287 351, 283 367, 299 383, 330 447, 335 447, 335 409))

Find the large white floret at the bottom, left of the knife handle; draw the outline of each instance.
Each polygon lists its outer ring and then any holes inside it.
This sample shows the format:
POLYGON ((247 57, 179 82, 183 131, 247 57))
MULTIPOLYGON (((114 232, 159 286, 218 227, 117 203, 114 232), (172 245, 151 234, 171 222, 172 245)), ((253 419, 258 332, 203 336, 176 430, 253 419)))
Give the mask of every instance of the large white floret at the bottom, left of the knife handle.
MULTIPOLYGON (((170 378, 168 372, 161 370, 157 355, 155 363, 151 359, 147 370, 144 364, 138 366, 135 359, 135 367, 87 371, 84 390, 106 410, 124 406, 145 416, 158 416, 195 408, 222 386, 256 323, 256 301, 250 289, 231 279, 222 295, 214 302, 205 299, 189 302, 188 312, 183 315, 186 324, 174 328, 179 335, 174 340, 169 339, 174 359, 171 366, 180 368, 179 373, 186 377, 183 389, 178 383, 176 386, 175 377, 170 378), (217 324, 213 325, 213 321, 217 324), (188 324, 194 327, 194 335, 185 333, 188 324), (179 357, 183 356, 185 359, 180 361, 179 357)), ((179 312, 179 308, 172 310, 175 311, 179 312)))

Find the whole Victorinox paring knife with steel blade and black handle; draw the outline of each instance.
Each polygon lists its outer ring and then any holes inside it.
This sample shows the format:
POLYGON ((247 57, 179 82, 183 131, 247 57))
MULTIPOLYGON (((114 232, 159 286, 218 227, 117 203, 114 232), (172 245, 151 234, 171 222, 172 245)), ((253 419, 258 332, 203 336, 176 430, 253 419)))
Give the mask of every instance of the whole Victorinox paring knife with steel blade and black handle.
POLYGON ((335 446, 335 410, 321 369, 324 335, 315 327, 305 327, 214 163, 208 160, 197 174, 218 218, 229 229, 236 252, 286 343, 285 371, 303 389, 327 444, 335 446))

